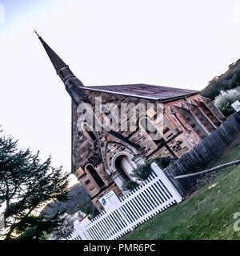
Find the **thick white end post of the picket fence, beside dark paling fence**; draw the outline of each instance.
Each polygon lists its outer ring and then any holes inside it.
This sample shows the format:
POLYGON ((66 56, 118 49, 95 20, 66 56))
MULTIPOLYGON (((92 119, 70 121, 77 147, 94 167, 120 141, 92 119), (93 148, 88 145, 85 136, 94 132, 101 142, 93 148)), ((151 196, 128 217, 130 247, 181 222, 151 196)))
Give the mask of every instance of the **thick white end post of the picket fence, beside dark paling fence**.
POLYGON ((154 170, 154 173, 158 175, 159 179, 164 186, 166 186, 167 190, 170 191, 170 194, 172 194, 176 202, 182 202, 181 194, 179 194, 178 190, 176 190, 173 183, 170 182, 170 179, 166 177, 166 174, 164 174, 162 169, 155 162, 151 164, 151 168, 154 170))

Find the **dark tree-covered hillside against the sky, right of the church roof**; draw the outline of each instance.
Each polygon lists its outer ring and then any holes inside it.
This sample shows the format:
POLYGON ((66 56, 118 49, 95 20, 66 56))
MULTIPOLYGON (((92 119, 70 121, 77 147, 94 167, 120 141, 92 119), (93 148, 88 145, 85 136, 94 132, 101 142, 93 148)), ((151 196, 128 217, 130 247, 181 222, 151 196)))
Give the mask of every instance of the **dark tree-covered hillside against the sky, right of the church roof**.
MULTIPOLYGON (((215 77, 211 80, 202 90, 201 94, 203 97, 214 100, 220 93, 220 90, 230 90, 240 86, 240 59, 237 62, 230 64, 229 70, 220 76, 215 77)), ((240 87, 239 87, 240 88, 240 87)))

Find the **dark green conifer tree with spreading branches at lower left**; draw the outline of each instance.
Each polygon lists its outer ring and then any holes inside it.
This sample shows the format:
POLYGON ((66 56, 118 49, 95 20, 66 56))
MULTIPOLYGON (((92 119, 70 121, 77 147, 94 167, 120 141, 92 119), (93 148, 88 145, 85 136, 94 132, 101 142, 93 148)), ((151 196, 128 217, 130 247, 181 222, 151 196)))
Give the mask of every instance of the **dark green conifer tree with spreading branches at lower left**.
POLYGON ((13 138, 0 138, 0 206, 6 203, 1 237, 42 239, 61 225, 62 213, 39 215, 47 202, 67 200, 69 174, 40 162, 39 152, 18 150, 13 138), (23 235, 24 234, 24 235, 23 235))

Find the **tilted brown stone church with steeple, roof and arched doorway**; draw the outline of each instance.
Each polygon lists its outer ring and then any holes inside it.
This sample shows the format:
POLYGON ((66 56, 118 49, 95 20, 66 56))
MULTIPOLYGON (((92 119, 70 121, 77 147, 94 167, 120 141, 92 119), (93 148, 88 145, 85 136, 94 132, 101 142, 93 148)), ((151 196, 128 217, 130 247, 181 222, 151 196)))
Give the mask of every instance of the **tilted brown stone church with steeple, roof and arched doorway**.
POLYGON ((134 180, 131 173, 138 164, 157 157, 180 158, 225 119, 210 99, 194 90, 146 84, 83 86, 69 66, 40 36, 38 38, 72 98, 72 173, 99 211, 103 210, 99 198, 110 190, 118 197, 126 194, 122 184, 134 180), (86 102, 95 117, 99 98, 102 101, 100 121, 107 127, 114 120, 117 130, 96 130, 79 113, 79 104, 86 102), (118 113, 126 106, 127 114, 114 115, 111 104, 118 113), (134 109, 137 122, 135 129, 130 130, 130 113, 134 106, 137 106, 134 109), (138 106, 145 107, 146 115, 139 114, 138 106), (146 123, 154 129, 146 129, 146 123), (83 126, 85 129, 81 129, 83 126), (122 126, 126 129, 121 130, 122 126), (156 134, 161 136, 156 138, 156 134))

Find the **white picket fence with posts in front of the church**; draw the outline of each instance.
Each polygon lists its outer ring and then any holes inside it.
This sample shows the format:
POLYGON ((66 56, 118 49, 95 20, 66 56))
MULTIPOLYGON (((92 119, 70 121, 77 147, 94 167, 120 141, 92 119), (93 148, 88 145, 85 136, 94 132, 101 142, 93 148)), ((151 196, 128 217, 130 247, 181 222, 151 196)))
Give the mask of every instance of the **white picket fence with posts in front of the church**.
POLYGON ((151 167, 153 174, 133 192, 120 198, 118 206, 103 211, 86 225, 75 221, 74 232, 66 240, 118 239, 162 210, 181 202, 181 194, 166 174, 156 163, 151 167))

